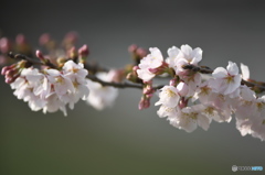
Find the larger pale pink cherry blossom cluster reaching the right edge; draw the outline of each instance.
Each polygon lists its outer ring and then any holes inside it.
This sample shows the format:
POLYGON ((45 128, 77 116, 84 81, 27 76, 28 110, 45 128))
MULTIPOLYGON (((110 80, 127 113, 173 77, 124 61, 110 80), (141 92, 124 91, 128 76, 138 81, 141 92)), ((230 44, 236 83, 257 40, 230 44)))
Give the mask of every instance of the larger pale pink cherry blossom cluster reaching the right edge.
POLYGON ((247 66, 242 64, 242 76, 237 65, 229 62, 226 69, 218 67, 211 77, 203 78, 198 68, 201 48, 173 46, 168 55, 165 61, 158 48, 150 48, 137 72, 139 78, 150 81, 168 73, 168 68, 173 69, 173 79, 160 89, 156 102, 160 106, 159 117, 167 117, 173 127, 192 132, 198 125, 208 130, 212 120, 230 122, 234 114, 242 135, 265 140, 265 96, 256 97, 250 87, 241 85, 242 77, 250 78, 247 66))

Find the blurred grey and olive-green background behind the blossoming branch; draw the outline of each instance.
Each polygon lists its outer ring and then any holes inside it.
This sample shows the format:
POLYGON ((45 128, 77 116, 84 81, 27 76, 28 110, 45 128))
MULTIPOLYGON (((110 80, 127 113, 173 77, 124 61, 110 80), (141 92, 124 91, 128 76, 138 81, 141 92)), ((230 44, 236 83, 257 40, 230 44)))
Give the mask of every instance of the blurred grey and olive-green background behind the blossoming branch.
MULTIPOLYGON (((76 31, 89 58, 108 67, 129 63, 134 43, 165 55, 172 45, 189 44, 203 50, 203 65, 244 63, 252 78, 265 81, 264 1, 1 0, 0 29, 12 39, 23 33, 35 45, 44 32, 62 40, 76 31)), ((232 165, 265 168, 265 143, 241 136, 234 120, 187 133, 159 119, 158 107, 138 111, 138 89, 121 89, 104 111, 81 101, 66 118, 32 112, 3 76, 0 89, 1 175, 223 175, 232 165)))

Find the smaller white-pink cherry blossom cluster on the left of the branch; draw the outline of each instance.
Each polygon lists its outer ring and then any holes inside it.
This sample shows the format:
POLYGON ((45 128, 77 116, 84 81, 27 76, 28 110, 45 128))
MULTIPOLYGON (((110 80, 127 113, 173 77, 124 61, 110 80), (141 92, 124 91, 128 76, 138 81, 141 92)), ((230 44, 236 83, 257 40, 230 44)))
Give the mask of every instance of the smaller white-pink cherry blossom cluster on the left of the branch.
POLYGON ((66 105, 73 109, 80 99, 87 98, 87 74, 83 64, 68 61, 61 72, 53 68, 42 72, 33 67, 22 68, 20 76, 10 85, 18 99, 28 102, 33 111, 42 109, 46 113, 61 110, 66 116, 66 105))

